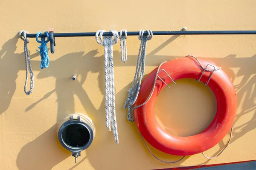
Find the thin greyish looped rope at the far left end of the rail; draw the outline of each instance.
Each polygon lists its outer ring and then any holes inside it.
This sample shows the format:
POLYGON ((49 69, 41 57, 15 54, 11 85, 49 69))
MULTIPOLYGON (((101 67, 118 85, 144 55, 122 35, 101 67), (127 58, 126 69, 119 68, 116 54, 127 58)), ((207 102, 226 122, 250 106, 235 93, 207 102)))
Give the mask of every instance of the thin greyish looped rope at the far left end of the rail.
POLYGON ((19 31, 19 37, 21 40, 24 41, 24 55, 25 55, 25 66, 26 66, 26 80, 24 85, 24 92, 26 95, 30 95, 32 94, 34 89, 34 73, 32 71, 32 66, 31 66, 30 56, 29 56, 29 49, 28 49, 29 38, 26 37, 26 34, 28 34, 27 31, 24 31, 24 30, 19 31), (29 87, 29 91, 26 91, 26 86, 28 83, 28 64, 29 64, 29 74, 30 74, 30 87, 29 87))

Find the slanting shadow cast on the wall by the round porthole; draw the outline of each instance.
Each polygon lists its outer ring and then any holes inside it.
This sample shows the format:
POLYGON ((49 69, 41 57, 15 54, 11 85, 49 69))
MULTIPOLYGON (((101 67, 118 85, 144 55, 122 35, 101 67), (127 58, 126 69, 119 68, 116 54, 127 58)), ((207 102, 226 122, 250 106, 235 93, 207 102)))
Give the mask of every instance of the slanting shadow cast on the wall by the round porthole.
POLYGON ((17 167, 19 170, 51 170, 70 156, 70 152, 61 147, 56 138, 55 124, 21 148, 17 156, 17 167))

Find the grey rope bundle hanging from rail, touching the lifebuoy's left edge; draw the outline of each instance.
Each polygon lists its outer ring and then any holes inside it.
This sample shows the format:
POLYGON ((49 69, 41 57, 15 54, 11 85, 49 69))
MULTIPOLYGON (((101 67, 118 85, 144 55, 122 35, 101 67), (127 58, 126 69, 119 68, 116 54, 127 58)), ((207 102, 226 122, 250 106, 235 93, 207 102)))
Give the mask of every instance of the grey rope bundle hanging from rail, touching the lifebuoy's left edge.
POLYGON ((126 109, 128 106, 127 119, 129 120, 129 122, 134 122, 134 118, 131 118, 131 106, 134 105, 140 92, 140 84, 145 72, 147 42, 148 40, 151 40, 153 37, 153 33, 151 30, 146 30, 146 31, 148 32, 148 35, 145 35, 145 36, 143 36, 144 30, 140 30, 140 33, 139 33, 139 40, 141 40, 141 43, 140 43, 140 49, 139 49, 139 54, 137 58, 136 71, 134 75, 134 80, 132 82, 132 86, 128 90, 129 92, 128 97, 123 106, 124 109, 126 109))

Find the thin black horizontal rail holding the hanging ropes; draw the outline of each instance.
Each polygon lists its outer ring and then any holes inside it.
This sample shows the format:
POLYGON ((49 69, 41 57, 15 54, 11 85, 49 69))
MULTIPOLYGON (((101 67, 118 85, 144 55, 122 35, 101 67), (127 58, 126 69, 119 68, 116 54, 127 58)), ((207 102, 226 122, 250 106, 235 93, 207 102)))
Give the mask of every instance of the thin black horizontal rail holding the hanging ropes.
MULTIPOLYGON (((55 33, 54 37, 94 37, 96 32, 77 32, 77 33, 55 33)), ((119 32, 118 32, 119 34, 119 32)), ((153 31, 153 35, 224 35, 224 34, 256 34, 256 31, 153 31)), ((111 32, 105 32, 103 36, 111 36, 111 32)), ((124 36, 125 33, 123 32, 124 36)), ((139 35, 139 31, 127 32, 127 35, 139 35)), ((148 35, 145 31, 143 35, 148 35)), ((35 38, 36 34, 26 34, 26 37, 35 38)), ((46 37, 40 34, 39 37, 46 37)))

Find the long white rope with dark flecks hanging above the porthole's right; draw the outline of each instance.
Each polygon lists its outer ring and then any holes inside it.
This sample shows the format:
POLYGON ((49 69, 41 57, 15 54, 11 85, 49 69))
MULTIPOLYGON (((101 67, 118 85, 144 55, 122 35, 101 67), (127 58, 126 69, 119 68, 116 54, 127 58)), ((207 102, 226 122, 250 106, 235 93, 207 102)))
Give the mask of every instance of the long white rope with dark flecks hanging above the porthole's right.
POLYGON ((98 30, 95 38, 99 45, 104 45, 105 54, 105 113, 106 113, 106 127, 111 131, 118 144, 118 133, 116 124, 116 108, 115 108, 115 84, 114 84, 114 65, 113 65, 113 45, 118 42, 118 32, 116 30, 110 30, 113 36, 103 36, 105 30, 98 30), (100 38, 100 41, 98 39, 100 38))

